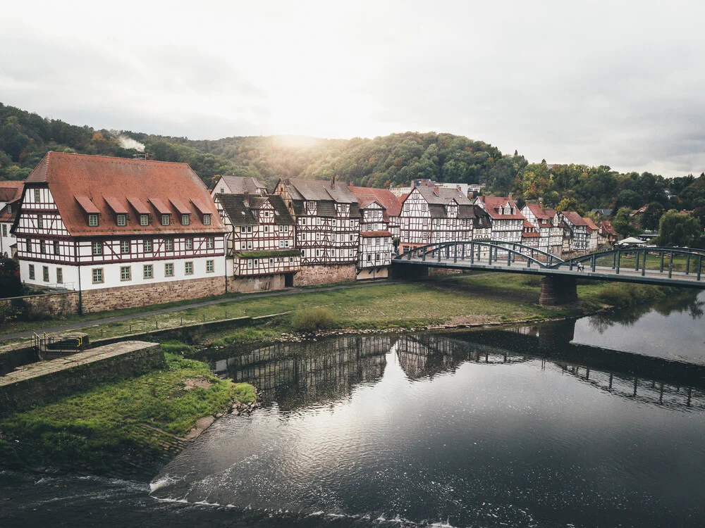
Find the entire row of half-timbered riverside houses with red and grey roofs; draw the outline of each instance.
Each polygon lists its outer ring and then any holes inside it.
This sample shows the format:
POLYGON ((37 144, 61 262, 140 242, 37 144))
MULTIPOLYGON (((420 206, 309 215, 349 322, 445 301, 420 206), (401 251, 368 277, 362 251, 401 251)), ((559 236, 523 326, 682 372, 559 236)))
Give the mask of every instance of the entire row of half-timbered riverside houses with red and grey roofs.
POLYGON ((453 186, 397 198, 283 178, 269 193, 221 176, 209 191, 184 163, 57 152, 0 184, 0 226, 25 285, 78 292, 87 312, 388 277, 396 239, 400 252, 496 239, 554 253, 587 250, 596 231, 576 213, 520 212, 511 196, 472 203, 453 186))

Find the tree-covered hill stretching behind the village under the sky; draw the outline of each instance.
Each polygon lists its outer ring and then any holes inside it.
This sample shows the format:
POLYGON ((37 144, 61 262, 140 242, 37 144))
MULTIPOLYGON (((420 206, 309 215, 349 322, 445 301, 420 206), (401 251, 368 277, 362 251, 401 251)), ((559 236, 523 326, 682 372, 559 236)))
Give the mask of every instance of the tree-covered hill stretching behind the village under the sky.
POLYGON ((48 120, 0 103, 0 180, 21 180, 49 150, 131 158, 139 142, 149 159, 180 161, 210 184, 217 174, 252 175, 271 187, 279 177, 309 177, 388 187, 412 178, 487 184, 493 194, 539 197, 548 206, 668 208, 705 206, 705 175, 664 179, 620 174, 606 166, 528 163, 481 141, 453 134, 403 132, 374 139, 228 137, 197 141, 136 132, 94 130, 48 120), (666 190, 673 194, 668 200, 666 190))

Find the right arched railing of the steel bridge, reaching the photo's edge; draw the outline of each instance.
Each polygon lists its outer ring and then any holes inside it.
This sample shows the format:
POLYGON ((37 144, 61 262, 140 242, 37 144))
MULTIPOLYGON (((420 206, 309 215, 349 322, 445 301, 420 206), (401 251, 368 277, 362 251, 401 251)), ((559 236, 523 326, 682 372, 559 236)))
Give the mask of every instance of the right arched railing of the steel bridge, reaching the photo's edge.
POLYGON ((633 269, 635 272, 641 272, 643 277, 646 275, 646 270, 658 270, 659 273, 667 272, 669 279, 673 277, 674 271, 682 271, 685 272, 686 276, 695 275, 696 280, 699 281, 703 275, 704 260, 705 251, 699 249, 680 249, 666 246, 637 247, 589 253, 554 264, 553 268, 559 269, 567 266, 572 271, 573 268, 580 264, 589 263, 592 272, 595 272, 598 266, 609 267, 615 270, 616 275, 619 275, 620 271, 625 269, 633 269), (649 257, 655 257, 655 259, 649 257), (631 258, 634 259, 633 263, 631 258), (649 263, 651 263, 651 267, 649 267, 649 263))

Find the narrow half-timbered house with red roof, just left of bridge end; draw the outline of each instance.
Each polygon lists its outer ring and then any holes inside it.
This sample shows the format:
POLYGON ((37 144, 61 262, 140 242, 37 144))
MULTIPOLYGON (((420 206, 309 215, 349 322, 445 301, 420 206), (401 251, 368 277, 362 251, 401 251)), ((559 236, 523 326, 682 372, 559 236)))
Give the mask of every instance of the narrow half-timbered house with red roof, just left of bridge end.
POLYGON ((367 198, 369 190, 350 186, 360 206, 360 246, 357 258, 357 279, 377 279, 389 276, 394 246, 385 220, 386 208, 376 199, 367 198))

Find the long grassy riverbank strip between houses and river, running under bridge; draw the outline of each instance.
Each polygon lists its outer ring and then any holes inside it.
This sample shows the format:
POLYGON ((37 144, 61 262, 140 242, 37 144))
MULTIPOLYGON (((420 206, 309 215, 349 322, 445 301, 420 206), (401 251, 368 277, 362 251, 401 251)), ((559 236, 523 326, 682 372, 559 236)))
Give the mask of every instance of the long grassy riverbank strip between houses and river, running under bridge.
MULTIPOLYGON (((87 332, 90 339, 99 339, 245 315, 256 317, 295 312, 302 308, 325 308, 332 315, 334 327, 348 329, 538 322, 576 317, 605 305, 635 306, 663 298, 671 289, 583 280, 577 288, 580 303, 563 308, 539 306, 539 291, 540 277, 535 276, 502 273, 458 275, 424 282, 374 284, 329 291, 312 289, 263 298, 239 296, 224 303, 185 306, 183 310, 161 315, 144 317, 135 314, 134 318, 119 322, 94 324, 92 320, 86 320, 82 331, 87 332)), ((110 315, 121 315, 121 310, 110 315)), ((37 322, 38 327, 51 324, 55 325, 56 322, 37 322)), ((6 325, 3 332, 9 333, 15 329, 14 324, 6 325)), ((282 332, 291 332, 292 329, 290 318, 283 318, 276 325, 212 332, 209 339, 225 339, 227 342, 272 341, 278 339, 282 332)))

